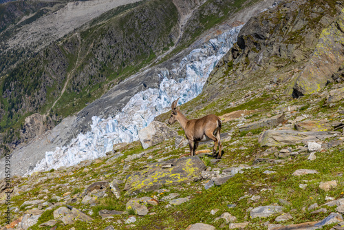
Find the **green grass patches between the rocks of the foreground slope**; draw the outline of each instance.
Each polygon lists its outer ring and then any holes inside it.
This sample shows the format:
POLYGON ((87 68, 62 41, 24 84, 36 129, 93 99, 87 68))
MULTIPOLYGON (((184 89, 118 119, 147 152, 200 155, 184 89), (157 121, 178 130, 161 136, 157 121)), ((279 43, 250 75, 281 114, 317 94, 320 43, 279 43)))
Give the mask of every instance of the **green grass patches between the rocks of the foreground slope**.
MULTIPOLYGON (((279 86, 275 90, 277 92, 283 92, 283 88, 286 85, 279 86)), ((324 91, 327 92, 328 89, 324 91)), ((268 98, 272 95, 272 90, 263 90, 263 98, 268 98)), ((341 118, 336 114, 338 105, 336 107, 327 107, 323 105, 323 99, 321 98, 322 92, 319 94, 313 94, 311 96, 303 97, 299 100, 287 99, 283 101, 283 106, 293 106, 297 105, 299 109, 296 112, 292 113, 292 118, 300 116, 301 114, 308 114, 309 116, 319 117, 319 114, 322 118, 332 119, 336 121, 341 118), (314 107, 314 101, 316 106, 314 107)), ((243 103, 235 108, 237 109, 257 109, 255 114, 246 116, 246 122, 255 121, 259 118, 265 117, 268 112, 266 109, 262 109, 260 103, 252 103, 255 99, 250 98, 248 102, 243 103), (250 100, 252 99, 252 100, 250 100)), ((279 101, 270 101, 268 104, 271 106, 273 104, 279 104, 279 101)), ((184 110, 185 107, 182 107, 184 110)), ((260 205, 274 205, 279 204, 279 198, 287 200, 291 205, 287 205, 285 212, 290 212, 293 216, 292 220, 283 222, 283 224, 307 222, 321 220, 328 216, 332 211, 335 211, 335 207, 326 207, 327 213, 318 213, 310 214, 310 211, 302 211, 303 207, 310 207, 314 202, 317 202, 319 205, 325 203, 326 196, 331 196, 334 198, 343 198, 344 194, 344 178, 343 178, 343 165, 344 159, 341 156, 341 151, 343 151, 343 145, 338 147, 333 147, 327 149, 323 152, 316 153, 316 160, 310 161, 307 160, 308 156, 297 156, 292 157, 288 160, 285 160, 283 163, 279 164, 268 164, 268 163, 259 163, 255 165, 254 159, 256 157, 264 154, 266 150, 272 150, 273 148, 268 149, 267 147, 260 147, 257 143, 257 135, 254 136, 245 136, 240 134, 237 131, 236 124, 238 121, 224 123, 224 130, 230 130, 233 132, 233 138, 230 141, 224 141, 225 154, 222 158, 219 165, 209 165, 212 167, 219 168, 220 171, 226 167, 231 167, 239 164, 246 164, 252 167, 251 169, 246 169, 242 174, 237 174, 234 178, 231 178, 224 185, 219 187, 212 187, 211 189, 205 190, 203 185, 206 181, 193 182, 188 185, 178 185, 175 187, 165 187, 170 189, 171 192, 175 192, 181 195, 181 197, 191 196, 191 200, 179 206, 174 207, 165 207, 168 205, 167 202, 161 202, 160 205, 149 207, 149 212, 155 212, 153 216, 136 216, 138 219, 134 224, 135 229, 185 229, 189 224, 196 222, 203 222, 211 224, 217 228, 220 228, 224 224, 224 220, 217 220, 215 218, 220 216, 224 212, 229 212, 231 215, 237 217, 237 222, 249 221, 250 225, 247 229, 266 229, 263 226, 263 223, 270 221, 274 223, 275 216, 264 219, 250 219, 249 214, 246 212, 246 209, 249 207, 258 207, 260 205), (234 144, 233 144, 234 143, 234 144), (240 149, 240 147, 246 147, 246 149, 240 149), (319 174, 312 174, 307 176, 292 176, 292 173, 297 169, 315 169, 319 171, 319 174), (276 171, 275 174, 263 174, 265 170, 276 171), (306 180, 306 181, 305 181, 306 180), (336 180, 338 187, 330 191, 323 191, 319 189, 319 182, 336 180), (308 184, 308 187, 303 190, 299 187, 300 184, 308 184), (197 192, 196 192, 197 191, 197 192), (200 192, 201 191, 201 192, 200 192), (250 197, 253 195, 261 196, 258 200, 250 200, 250 197), (240 198, 240 199, 239 199, 240 198), (227 205, 235 204, 237 207, 228 209, 227 205), (210 214, 212 209, 219 209, 215 216, 210 214), (294 211, 293 211, 294 210, 294 211)), ((177 127, 179 129, 179 127, 177 127)), ((253 132, 255 134, 255 132, 253 132)), ((184 154, 184 151, 188 151, 188 147, 183 147, 182 149, 174 149, 174 140, 168 140, 160 145, 151 147, 151 153, 143 156, 140 159, 132 160, 129 163, 124 163, 124 159, 132 154, 137 154, 143 151, 140 143, 135 142, 129 144, 125 149, 122 149, 121 152, 125 155, 121 158, 118 158, 115 161, 104 162, 104 163, 92 163, 89 169, 91 171, 85 172, 83 166, 71 167, 69 169, 63 169, 54 172, 45 172, 39 173, 35 176, 32 176, 29 180, 27 178, 19 179, 19 186, 21 185, 31 185, 32 188, 29 191, 20 194, 19 196, 14 196, 13 207, 19 207, 24 200, 38 196, 41 194, 43 189, 49 189, 50 192, 47 194, 48 199, 52 196, 62 196, 67 191, 72 191, 72 194, 76 197, 80 196, 80 193, 83 191, 83 186, 85 184, 90 184, 91 181, 98 181, 111 178, 125 178, 125 176, 132 174, 132 171, 140 170, 140 167, 146 165, 147 163, 154 162, 159 158, 169 157, 169 158, 178 158, 181 154, 184 154), (149 156, 153 158, 149 159, 149 156), (73 174, 70 173, 73 172, 73 174), (32 185, 32 183, 39 181, 39 178, 47 176, 55 176, 53 179, 45 179, 45 182, 40 182, 39 185, 32 185), (70 179, 76 178, 74 182, 69 182, 70 179), (63 183, 69 182, 70 187, 61 187, 61 189, 50 189, 52 185, 60 185, 63 183)), ((288 147, 288 146, 287 146, 288 147)), ((296 146, 290 146, 291 148, 296 148, 296 146)), ((208 149, 206 145, 201 145, 200 149, 208 149)), ((282 149, 283 147, 278 147, 282 149)), ((269 152, 266 151, 266 152, 269 152)), ((107 157, 108 158, 108 157, 107 157)), ((276 159, 273 154, 268 154, 264 158, 276 159)), ((105 160, 104 158, 103 160, 105 160)), ((209 161, 203 159, 206 164, 209 164, 209 161)), ((44 180, 43 180, 44 181, 44 180)), ((124 185, 121 185, 122 189, 124 185)), ((129 197, 122 196, 120 199, 112 197, 111 191, 108 191, 110 197, 100 199, 99 204, 95 207, 88 207, 88 205, 80 205, 77 203, 70 204, 74 207, 80 209, 92 210, 94 214, 92 217, 95 218, 92 223, 77 222, 74 225, 63 226, 58 224, 57 229, 70 229, 75 227, 76 229, 104 229, 109 224, 114 225, 115 229, 127 229, 127 224, 124 224, 124 220, 129 217, 129 214, 123 214, 122 216, 114 216, 114 218, 109 220, 102 220, 98 216, 98 211, 101 209, 115 209, 115 210, 125 210, 125 203, 130 199, 129 197), (121 224, 118 224, 118 221, 121 224)), ((139 194, 138 196, 166 196, 167 194, 157 194, 152 191, 145 194, 139 194)), ((56 202, 56 200, 50 200, 51 202, 56 202)), ((1 206, 1 209, 5 208, 4 205, 1 206)), ((22 208, 24 209, 24 208, 22 208)), ((132 215, 133 213, 131 213, 132 215)), ((39 223, 45 222, 52 219, 52 211, 45 211, 43 216, 39 219, 39 223)), ((277 223, 277 222, 275 222, 277 223)), ((34 225, 32 229, 39 229, 38 224, 34 225)), ((331 225, 333 226, 333 225, 331 225)), ((323 229, 330 229, 331 226, 327 226, 323 229)), ((48 228, 46 228, 48 229, 48 228)))

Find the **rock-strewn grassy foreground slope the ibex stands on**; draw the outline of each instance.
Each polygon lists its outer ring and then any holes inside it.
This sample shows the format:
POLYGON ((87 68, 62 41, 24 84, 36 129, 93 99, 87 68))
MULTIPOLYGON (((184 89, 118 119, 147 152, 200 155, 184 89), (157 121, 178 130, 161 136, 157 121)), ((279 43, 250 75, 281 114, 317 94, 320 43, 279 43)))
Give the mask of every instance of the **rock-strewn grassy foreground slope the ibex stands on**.
MULTIPOLYGON (((164 135, 156 135, 164 138, 155 136, 160 143, 147 149, 140 141, 114 145, 104 158, 12 178, 7 227, 343 228, 344 85, 297 100, 275 97, 286 87, 268 83, 221 113, 221 160, 211 157, 211 142, 200 145, 197 156, 180 158, 189 147, 167 136, 165 125, 164 135)), ((172 128, 177 132, 169 135, 182 135, 178 125, 172 128)), ((3 180, 3 213, 5 188, 3 180)))

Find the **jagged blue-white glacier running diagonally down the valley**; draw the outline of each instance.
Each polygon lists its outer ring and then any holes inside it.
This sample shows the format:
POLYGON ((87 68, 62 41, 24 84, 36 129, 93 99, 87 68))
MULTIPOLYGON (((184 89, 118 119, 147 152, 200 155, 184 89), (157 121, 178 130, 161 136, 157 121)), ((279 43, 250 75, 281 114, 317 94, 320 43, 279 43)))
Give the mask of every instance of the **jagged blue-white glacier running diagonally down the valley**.
MULTIPOLYGON (((36 164, 34 171, 46 171, 76 165, 83 160, 105 156, 116 143, 138 140, 138 131, 147 127, 155 116, 169 111, 172 101, 180 98, 181 105, 202 92, 209 74, 237 41, 243 25, 224 31, 192 50, 171 70, 162 70, 159 88, 149 88, 135 94, 114 117, 92 117, 91 130, 78 134, 69 145, 47 151, 45 158, 36 164), (178 79, 172 76, 180 76, 178 79)), ((27 175, 28 175, 27 174, 27 175)))

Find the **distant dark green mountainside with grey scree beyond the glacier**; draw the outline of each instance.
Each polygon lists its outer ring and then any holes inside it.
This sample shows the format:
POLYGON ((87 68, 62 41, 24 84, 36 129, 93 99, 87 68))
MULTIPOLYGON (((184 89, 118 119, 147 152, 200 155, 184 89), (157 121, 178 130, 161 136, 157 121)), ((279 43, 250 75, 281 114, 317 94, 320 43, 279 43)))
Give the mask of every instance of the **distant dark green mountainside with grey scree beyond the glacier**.
POLYGON ((25 125, 31 114, 43 116, 38 120, 44 121, 38 133, 54 127, 131 74, 182 52, 203 32, 256 1, 130 2, 16 1, 2 5, 6 7, 1 15, 12 8, 20 12, 3 23, 0 33, 0 139, 4 148, 13 149, 36 136, 25 125))

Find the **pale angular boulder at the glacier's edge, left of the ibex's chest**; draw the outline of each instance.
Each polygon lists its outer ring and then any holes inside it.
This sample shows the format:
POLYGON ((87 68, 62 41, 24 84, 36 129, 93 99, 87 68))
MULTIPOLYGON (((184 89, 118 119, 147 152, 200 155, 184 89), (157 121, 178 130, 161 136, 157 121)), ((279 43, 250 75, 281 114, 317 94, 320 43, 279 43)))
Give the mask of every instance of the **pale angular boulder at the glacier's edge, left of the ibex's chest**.
POLYGON ((159 121, 151 122, 147 127, 138 132, 138 138, 144 149, 162 143, 178 135, 178 132, 159 121))

